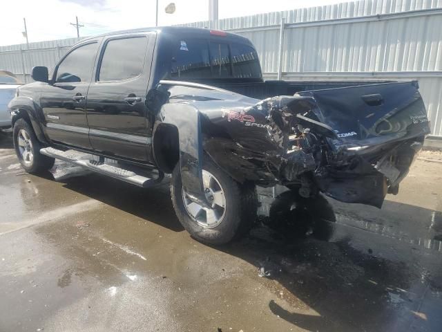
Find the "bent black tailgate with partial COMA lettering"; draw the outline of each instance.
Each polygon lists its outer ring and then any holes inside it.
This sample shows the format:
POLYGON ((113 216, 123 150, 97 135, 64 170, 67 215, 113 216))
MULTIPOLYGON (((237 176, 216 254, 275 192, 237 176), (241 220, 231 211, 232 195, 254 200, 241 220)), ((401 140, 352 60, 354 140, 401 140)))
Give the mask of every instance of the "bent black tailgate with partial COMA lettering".
POLYGON ((335 146, 372 146, 430 133, 416 81, 304 91, 316 100, 314 113, 334 129, 335 146))

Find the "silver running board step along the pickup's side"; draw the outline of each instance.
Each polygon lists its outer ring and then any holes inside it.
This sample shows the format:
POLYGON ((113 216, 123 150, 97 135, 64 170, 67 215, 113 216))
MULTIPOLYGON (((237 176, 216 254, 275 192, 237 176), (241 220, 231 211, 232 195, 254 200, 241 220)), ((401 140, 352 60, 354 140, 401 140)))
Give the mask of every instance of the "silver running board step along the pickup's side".
POLYGON ((73 163, 75 165, 90 169, 91 171, 99 174, 111 176, 113 178, 132 183, 139 187, 151 187, 151 185, 160 183, 164 178, 164 173, 160 171, 157 173, 152 172, 152 175, 155 176, 155 178, 148 178, 144 175, 137 174, 135 171, 119 167, 119 165, 116 163, 115 165, 100 163, 98 156, 86 154, 76 150, 61 151, 54 149, 53 147, 44 147, 40 149, 40 153, 48 157, 60 159, 66 161, 67 163, 73 163))

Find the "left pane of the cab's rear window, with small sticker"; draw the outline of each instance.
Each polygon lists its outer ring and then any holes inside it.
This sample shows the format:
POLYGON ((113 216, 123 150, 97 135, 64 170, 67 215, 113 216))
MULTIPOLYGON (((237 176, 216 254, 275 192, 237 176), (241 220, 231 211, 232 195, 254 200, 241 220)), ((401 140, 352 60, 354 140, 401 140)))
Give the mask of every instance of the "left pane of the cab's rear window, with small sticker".
POLYGON ((175 43, 171 77, 212 77, 209 47, 206 39, 183 39, 175 43))

